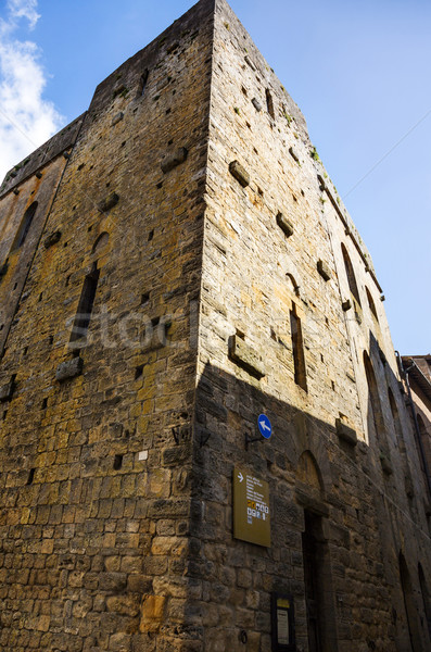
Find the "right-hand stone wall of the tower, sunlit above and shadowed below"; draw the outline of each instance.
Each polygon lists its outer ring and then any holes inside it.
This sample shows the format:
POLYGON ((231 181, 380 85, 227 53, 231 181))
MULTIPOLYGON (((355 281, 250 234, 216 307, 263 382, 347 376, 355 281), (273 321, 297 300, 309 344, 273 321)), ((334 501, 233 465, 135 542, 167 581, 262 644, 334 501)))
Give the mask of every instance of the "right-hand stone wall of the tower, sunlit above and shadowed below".
POLYGON ((322 649, 409 650, 411 636, 426 650, 429 500, 381 288, 300 111, 225 2, 215 34, 197 403, 203 649, 269 651, 275 591, 294 597, 297 650, 309 649, 303 532, 314 518, 322 649), (246 450, 261 413, 272 438, 246 450), (236 465, 269 482, 269 549, 232 538, 236 465), (400 555, 416 587, 409 627, 400 555))

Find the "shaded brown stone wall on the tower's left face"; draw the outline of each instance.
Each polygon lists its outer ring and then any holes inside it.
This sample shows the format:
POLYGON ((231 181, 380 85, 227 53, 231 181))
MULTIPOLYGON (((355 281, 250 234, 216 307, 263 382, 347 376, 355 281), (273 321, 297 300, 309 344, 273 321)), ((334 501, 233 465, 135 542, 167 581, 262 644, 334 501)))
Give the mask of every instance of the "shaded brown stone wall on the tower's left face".
POLYGON ((67 160, 3 186, 1 650, 170 651, 194 636, 183 622, 212 36, 201 2, 98 87, 67 160), (26 248, 9 253, 35 198, 26 248), (88 339, 71 341, 91 278, 88 339))

